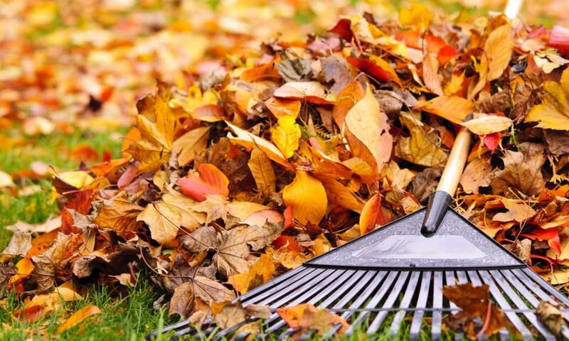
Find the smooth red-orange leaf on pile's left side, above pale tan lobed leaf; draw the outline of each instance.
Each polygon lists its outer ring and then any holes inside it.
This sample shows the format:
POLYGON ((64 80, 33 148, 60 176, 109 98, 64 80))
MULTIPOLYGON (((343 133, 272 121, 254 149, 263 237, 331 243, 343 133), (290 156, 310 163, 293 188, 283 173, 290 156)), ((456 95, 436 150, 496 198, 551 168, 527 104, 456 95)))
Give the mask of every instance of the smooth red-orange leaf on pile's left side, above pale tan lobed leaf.
POLYGON ((202 163, 198 167, 200 175, 188 174, 178 180, 182 193, 194 200, 205 201, 206 194, 229 195, 229 180, 216 166, 202 163))

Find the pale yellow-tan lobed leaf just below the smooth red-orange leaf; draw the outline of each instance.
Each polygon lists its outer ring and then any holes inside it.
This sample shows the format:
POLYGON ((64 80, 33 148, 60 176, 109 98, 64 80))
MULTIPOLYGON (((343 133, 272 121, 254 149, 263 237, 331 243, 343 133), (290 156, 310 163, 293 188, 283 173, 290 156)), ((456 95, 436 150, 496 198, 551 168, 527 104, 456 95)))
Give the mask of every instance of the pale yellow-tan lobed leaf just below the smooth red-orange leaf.
POLYGON ((205 222, 202 212, 196 212, 197 202, 180 193, 166 193, 162 200, 151 202, 140 212, 137 221, 147 223, 152 239, 162 245, 175 242, 180 227, 190 231, 205 222), (194 210, 194 208, 196 210, 194 210))

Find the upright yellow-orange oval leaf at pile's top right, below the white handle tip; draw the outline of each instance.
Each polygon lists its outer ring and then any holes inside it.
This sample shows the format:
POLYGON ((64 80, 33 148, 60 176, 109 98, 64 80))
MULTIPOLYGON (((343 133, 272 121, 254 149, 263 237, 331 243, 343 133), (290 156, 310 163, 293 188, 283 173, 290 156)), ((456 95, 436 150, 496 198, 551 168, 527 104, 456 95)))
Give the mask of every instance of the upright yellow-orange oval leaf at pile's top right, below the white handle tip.
POLYGON ((502 25, 492 31, 486 43, 484 53, 488 57, 488 80, 496 80, 508 67, 511 59, 511 51, 514 48, 510 24, 502 25))

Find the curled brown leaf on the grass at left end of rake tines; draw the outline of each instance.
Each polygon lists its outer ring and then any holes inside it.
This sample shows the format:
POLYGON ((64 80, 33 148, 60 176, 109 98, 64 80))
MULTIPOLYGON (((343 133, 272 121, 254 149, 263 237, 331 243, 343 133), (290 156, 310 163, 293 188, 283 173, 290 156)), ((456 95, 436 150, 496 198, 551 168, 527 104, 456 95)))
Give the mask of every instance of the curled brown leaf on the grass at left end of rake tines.
POLYGON ((178 314, 181 318, 188 318, 194 312, 198 299, 210 305, 213 302, 231 301, 233 298, 235 294, 223 284, 195 276, 176 288, 170 301, 169 315, 178 314))

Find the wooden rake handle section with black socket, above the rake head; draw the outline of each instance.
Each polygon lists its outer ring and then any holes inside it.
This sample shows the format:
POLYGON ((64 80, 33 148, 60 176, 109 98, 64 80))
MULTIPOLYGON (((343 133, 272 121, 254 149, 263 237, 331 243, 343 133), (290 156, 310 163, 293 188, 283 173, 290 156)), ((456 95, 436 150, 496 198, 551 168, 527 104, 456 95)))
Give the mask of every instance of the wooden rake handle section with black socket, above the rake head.
POLYGON ((445 170, 442 171, 437 190, 429 197, 425 220, 422 222, 421 234, 432 237, 437 233, 442 219, 445 217, 448 205, 457 191, 464 165, 467 162, 470 146, 470 132, 462 127, 454 139, 450 155, 447 158, 445 170))

